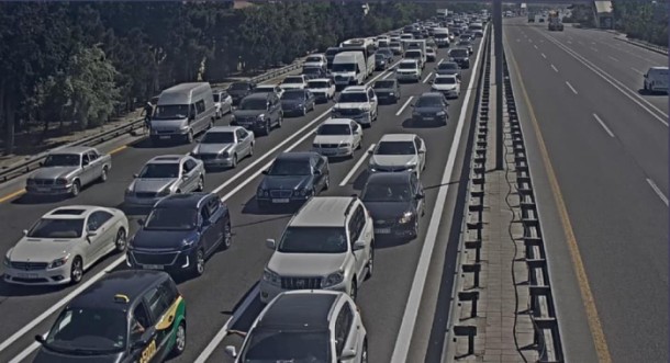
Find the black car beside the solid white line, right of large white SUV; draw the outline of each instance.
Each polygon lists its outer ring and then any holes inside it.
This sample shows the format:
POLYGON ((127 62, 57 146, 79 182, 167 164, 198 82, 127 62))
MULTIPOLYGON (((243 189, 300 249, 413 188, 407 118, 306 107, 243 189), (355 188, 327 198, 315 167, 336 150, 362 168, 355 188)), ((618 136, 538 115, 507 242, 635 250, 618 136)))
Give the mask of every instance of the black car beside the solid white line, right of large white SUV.
POLYGON ((366 182, 361 201, 372 216, 376 235, 410 238, 418 235, 418 218, 424 214, 425 203, 416 173, 373 173, 366 182))

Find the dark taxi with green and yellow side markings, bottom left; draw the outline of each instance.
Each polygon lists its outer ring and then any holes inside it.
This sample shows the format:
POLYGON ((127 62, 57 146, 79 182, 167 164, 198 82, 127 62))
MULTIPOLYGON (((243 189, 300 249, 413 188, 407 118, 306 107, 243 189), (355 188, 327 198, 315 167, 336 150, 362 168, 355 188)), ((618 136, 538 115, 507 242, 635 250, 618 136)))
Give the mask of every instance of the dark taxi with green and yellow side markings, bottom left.
POLYGON ((35 339, 36 363, 163 362, 186 349, 186 302, 166 272, 111 272, 35 339))

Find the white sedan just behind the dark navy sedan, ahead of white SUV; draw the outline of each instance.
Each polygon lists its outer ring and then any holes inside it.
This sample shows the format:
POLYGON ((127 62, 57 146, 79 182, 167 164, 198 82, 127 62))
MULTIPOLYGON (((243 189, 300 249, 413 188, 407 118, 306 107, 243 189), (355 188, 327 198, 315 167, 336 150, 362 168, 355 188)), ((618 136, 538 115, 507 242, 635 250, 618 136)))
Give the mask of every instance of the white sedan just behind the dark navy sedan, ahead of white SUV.
POLYGON ((316 129, 312 151, 325 157, 353 157, 362 145, 362 127, 350 118, 328 118, 316 129))

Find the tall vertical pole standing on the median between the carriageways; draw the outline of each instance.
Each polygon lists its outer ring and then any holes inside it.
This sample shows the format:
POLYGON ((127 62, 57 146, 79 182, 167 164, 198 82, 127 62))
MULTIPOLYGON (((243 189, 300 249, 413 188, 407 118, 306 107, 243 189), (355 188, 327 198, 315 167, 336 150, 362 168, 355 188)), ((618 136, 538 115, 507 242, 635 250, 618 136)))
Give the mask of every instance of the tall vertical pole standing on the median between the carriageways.
POLYGON ((503 170, 502 47, 502 0, 493 0, 493 49, 495 50, 495 170, 503 170))

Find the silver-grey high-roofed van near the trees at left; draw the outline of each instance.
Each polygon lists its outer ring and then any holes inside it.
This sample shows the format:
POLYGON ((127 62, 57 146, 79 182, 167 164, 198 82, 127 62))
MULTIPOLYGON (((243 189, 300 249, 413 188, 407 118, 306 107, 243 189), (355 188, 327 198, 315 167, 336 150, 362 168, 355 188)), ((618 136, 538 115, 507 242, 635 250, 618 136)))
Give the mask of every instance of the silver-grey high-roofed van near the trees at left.
POLYGON ((181 139, 190 144, 196 135, 214 125, 215 117, 210 83, 177 84, 158 98, 150 124, 152 141, 181 139))

